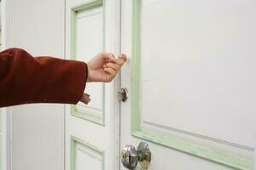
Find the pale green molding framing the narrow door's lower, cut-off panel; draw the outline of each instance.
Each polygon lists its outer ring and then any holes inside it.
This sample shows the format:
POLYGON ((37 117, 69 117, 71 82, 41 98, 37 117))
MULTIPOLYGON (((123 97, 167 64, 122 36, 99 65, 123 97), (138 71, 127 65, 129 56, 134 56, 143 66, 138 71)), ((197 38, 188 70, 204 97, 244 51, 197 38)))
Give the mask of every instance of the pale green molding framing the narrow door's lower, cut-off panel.
POLYGON ((90 150, 94 150, 96 153, 102 156, 102 170, 105 169, 105 153, 104 150, 98 149, 96 146, 86 143, 81 139, 78 139, 74 136, 70 138, 70 170, 76 170, 76 144, 82 144, 85 147, 89 148, 90 150))

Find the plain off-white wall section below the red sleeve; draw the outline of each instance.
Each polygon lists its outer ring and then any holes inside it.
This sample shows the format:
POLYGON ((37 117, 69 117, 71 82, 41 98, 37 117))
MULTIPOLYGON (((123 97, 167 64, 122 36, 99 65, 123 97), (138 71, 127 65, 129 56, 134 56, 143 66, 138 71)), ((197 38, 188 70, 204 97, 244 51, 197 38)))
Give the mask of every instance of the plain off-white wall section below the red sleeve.
POLYGON ((64 168, 63 105, 12 108, 12 169, 64 168))

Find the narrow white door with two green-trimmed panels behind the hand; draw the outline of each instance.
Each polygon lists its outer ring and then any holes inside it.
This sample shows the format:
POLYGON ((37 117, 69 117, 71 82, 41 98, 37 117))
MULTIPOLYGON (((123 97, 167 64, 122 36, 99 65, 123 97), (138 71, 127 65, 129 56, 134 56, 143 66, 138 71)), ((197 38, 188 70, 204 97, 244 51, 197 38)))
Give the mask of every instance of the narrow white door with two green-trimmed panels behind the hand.
MULTIPOLYGON (((119 1, 66 0, 66 58, 119 52, 119 1)), ((66 169, 119 168, 117 80, 86 84, 90 104, 66 105, 66 169)))

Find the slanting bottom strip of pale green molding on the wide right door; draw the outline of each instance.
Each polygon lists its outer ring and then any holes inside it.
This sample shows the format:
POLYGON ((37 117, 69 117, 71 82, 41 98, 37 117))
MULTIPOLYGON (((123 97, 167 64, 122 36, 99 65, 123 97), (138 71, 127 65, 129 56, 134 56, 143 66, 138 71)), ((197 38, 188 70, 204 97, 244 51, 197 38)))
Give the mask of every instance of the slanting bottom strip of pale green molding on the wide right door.
POLYGON ((133 136, 172 148, 174 150, 183 151, 191 156, 198 156, 208 161, 217 162, 227 167, 233 167, 242 170, 253 170, 253 160, 249 157, 236 156, 227 153, 224 150, 213 150, 199 144, 193 144, 181 139, 172 138, 160 133, 137 131, 132 133, 133 136))

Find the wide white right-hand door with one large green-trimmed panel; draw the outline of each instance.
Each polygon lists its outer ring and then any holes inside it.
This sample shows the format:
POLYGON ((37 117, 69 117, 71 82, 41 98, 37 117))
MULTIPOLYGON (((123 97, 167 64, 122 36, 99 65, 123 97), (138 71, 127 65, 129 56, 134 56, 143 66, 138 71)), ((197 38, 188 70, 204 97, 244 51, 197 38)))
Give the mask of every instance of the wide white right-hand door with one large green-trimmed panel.
POLYGON ((133 0, 121 8, 121 52, 131 56, 121 73, 121 148, 148 143, 152 170, 252 170, 256 2, 133 0))

